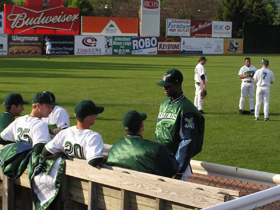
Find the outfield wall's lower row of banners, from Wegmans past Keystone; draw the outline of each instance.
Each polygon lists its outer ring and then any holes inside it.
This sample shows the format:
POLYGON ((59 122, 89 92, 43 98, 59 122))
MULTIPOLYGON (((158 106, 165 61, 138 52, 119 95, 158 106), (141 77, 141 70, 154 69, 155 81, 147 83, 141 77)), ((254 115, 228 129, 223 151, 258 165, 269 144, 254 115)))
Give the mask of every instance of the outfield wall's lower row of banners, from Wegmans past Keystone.
POLYGON ((243 39, 0 34, 0 55, 242 54, 243 39))

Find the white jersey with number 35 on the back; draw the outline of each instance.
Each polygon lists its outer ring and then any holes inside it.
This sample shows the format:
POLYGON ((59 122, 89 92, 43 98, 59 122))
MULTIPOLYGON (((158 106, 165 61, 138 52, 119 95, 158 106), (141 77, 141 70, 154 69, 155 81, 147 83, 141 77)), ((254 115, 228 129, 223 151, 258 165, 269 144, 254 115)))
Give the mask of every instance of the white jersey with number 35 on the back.
POLYGON ((1 138, 9 141, 29 141, 34 146, 36 143, 50 141, 48 127, 38 117, 24 115, 16 118, 2 132, 1 138))

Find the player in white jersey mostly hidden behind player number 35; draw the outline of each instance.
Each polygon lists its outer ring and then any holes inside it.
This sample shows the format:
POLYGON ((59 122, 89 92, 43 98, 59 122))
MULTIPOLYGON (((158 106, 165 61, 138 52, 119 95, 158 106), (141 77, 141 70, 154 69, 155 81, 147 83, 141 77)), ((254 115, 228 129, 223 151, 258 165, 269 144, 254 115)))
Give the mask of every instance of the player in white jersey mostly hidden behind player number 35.
MULTIPOLYGON (((55 96, 52 92, 49 92, 52 101, 55 102, 55 96)), ((53 138, 61 129, 65 129, 70 126, 68 112, 59 105, 53 106, 53 110, 48 117, 42 117, 49 130, 50 138, 53 138)))

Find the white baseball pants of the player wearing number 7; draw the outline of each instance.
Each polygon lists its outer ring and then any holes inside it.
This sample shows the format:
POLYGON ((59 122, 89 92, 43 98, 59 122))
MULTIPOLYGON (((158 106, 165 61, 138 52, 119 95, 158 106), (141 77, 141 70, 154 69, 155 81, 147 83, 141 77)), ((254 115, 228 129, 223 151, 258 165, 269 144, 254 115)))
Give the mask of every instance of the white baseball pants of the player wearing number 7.
POLYGON ((263 113, 264 118, 268 118, 268 110, 269 110, 269 86, 256 86, 255 91, 255 108, 254 108, 254 116, 259 116, 260 103, 263 101, 263 113))

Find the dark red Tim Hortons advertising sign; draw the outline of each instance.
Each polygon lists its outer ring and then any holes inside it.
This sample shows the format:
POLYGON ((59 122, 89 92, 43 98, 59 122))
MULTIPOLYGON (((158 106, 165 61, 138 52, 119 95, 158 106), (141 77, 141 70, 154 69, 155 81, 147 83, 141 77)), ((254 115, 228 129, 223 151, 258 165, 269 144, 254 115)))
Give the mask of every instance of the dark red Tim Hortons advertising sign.
POLYGON ((190 21, 190 36, 211 37, 212 36, 212 21, 191 20, 190 21))

